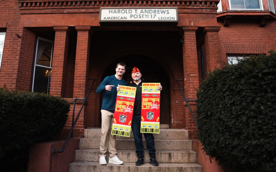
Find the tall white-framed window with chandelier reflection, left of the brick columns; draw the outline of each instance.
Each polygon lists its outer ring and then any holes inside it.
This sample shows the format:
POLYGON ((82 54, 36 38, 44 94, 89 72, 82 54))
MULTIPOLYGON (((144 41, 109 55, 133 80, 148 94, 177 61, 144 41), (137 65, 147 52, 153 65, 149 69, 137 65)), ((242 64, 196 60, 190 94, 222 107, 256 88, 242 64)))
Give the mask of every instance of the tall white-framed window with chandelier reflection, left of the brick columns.
POLYGON ((54 41, 37 38, 32 91, 49 93, 54 41))

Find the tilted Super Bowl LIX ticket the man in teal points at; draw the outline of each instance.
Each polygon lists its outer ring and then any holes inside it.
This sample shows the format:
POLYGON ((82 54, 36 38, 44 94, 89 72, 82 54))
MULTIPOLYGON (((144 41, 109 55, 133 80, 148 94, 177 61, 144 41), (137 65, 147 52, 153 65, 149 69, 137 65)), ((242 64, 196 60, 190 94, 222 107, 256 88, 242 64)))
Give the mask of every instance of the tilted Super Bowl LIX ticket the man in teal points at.
POLYGON ((131 120, 135 100, 135 87, 118 85, 111 134, 130 137, 131 120))

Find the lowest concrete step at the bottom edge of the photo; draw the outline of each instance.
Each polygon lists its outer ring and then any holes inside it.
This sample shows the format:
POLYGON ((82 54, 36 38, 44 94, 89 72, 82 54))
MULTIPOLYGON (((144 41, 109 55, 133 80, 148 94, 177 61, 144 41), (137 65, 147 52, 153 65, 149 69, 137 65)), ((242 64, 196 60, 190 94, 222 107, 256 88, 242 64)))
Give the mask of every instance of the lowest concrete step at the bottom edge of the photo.
MULTIPOLYGON (((147 162, 147 161, 146 161, 147 162)), ((149 163, 135 166, 135 163, 124 163, 122 165, 109 164, 99 165, 99 162, 73 162, 70 164, 70 172, 93 171, 93 172, 202 172, 199 164, 168 164, 160 163, 154 167, 149 163)))

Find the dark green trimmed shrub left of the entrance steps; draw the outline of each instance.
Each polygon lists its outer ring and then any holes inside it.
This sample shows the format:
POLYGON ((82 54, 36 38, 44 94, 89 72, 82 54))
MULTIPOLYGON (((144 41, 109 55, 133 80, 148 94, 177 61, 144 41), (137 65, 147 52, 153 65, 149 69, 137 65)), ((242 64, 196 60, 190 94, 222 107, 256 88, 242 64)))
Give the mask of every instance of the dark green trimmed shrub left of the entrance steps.
POLYGON ((0 89, 0 158, 59 134, 70 104, 42 93, 0 89))

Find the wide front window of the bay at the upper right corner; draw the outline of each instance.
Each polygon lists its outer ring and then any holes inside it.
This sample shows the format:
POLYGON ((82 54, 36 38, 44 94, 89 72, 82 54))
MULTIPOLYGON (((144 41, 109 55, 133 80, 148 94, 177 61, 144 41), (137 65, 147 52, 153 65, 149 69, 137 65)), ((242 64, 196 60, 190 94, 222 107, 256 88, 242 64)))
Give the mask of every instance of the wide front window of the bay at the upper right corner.
POLYGON ((262 10, 261 0, 229 0, 231 10, 262 10))

